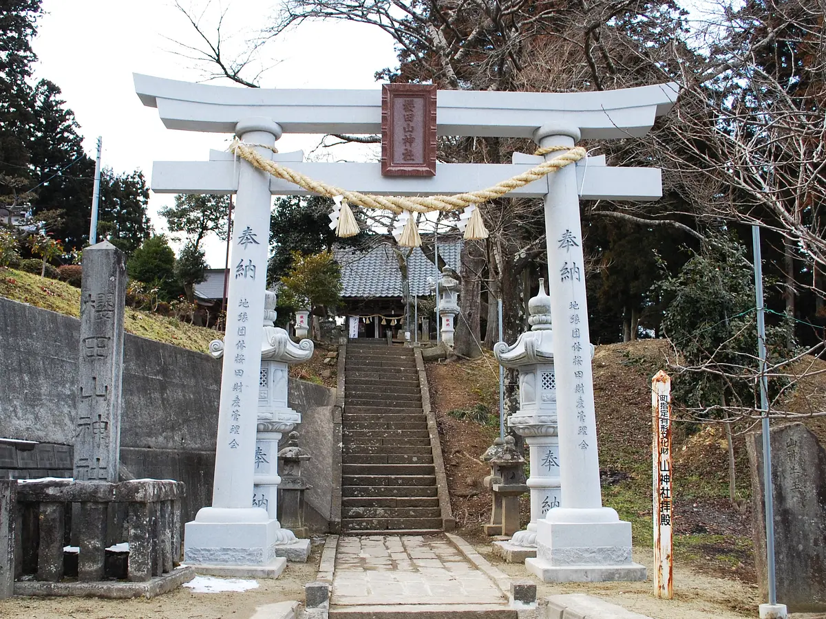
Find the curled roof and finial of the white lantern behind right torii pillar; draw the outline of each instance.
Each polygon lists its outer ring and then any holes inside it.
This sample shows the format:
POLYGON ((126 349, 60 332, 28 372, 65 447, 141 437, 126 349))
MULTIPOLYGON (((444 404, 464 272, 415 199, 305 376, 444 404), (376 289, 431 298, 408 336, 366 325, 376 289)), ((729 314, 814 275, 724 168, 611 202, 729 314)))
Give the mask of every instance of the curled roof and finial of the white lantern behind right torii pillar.
POLYGON ((544 279, 539 280, 539 293, 528 301, 530 331, 520 334, 512 346, 496 343, 493 355, 503 366, 520 368, 537 363, 553 363, 553 330, 551 329, 551 297, 545 292, 544 279))

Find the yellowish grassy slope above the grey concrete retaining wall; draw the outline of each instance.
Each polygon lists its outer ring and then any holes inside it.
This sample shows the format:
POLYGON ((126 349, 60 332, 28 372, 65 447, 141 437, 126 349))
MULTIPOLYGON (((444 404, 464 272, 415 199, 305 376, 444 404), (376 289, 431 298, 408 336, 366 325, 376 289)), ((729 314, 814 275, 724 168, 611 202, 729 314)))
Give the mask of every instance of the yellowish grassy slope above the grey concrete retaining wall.
MULTIPOLYGON (((59 314, 80 316, 80 289, 64 281, 0 268, 0 296, 59 314)), ((197 352, 207 352, 210 341, 219 335, 211 328, 193 327, 175 318, 128 307, 125 328, 126 333, 197 352)))

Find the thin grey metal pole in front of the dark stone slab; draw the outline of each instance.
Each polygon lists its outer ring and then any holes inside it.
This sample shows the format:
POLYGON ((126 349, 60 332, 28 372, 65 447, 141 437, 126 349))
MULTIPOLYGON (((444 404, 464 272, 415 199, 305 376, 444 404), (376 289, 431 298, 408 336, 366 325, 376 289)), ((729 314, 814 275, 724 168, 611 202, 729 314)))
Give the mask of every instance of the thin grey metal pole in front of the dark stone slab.
POLYGON ((766 377, 766 322, 763 316, 763 269, 760 257, 760 227, 752 225, 754 246, 754 298, 757 301, 757 355, 760 359, 760 410, 763 434, 763 492, 766 495, 766 568, 769 603, 777 603, 774 565, 774 497, 771 492, 771 441, 769 440, 769 398, 766 377))

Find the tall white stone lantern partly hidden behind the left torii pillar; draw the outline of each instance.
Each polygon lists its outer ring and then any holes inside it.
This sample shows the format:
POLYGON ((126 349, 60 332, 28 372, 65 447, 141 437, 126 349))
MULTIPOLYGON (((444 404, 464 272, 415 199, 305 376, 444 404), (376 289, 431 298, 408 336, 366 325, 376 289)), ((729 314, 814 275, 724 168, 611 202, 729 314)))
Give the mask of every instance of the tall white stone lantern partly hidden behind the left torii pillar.
MULTIPOLYGON (((263 338, 261 340, 261 371, 259 374, 258 426, 255 435, 255 470, 253 476, 252 507, 267 510, 268 516, 278 520, 278 442, 284 432, 290 432, 301 423, 301 413, 287 404, 287 385, 289 366, 309 361, 314 345, 312 340, 302 339, 295 343, 287 331, 273 326, 276 319, 276 295, 264 293, 263 338)), ((210 344, 213 357, 221 358, 224 343, 213 340, 210 344)), ((309 543, 297 540, 287 528, 281 529, 280 545, 306 546, 309 555, 309 543)), ((299 550, 299 553, 301 550, 299 550)), ((277 548, 279 556, 289 556, 295 560, 296 551, 277 548)), ((306 556, 304 558, 306 560, 306 556)))

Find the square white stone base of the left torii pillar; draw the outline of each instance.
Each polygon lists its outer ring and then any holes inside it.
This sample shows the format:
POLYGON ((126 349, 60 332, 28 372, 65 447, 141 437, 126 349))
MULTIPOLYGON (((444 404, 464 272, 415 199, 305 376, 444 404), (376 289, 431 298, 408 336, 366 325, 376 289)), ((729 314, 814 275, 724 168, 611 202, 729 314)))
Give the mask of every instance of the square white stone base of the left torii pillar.
POLYGON ((183 560, 198 574, 274 579, 287 563, 276 548, 294 539, 262 508, 202 508, 184 529, 183 560))

